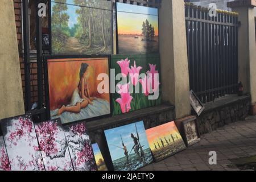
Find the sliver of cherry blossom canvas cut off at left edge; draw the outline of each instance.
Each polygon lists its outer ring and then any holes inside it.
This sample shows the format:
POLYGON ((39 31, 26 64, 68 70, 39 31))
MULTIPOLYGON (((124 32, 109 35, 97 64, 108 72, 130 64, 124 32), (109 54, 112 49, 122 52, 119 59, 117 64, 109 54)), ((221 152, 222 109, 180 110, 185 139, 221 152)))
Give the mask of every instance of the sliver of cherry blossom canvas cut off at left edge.
POLYGON ((2 136, 0 136, 0 171, 11 171, 9 158, 5 148, 5 141, 2 136))

